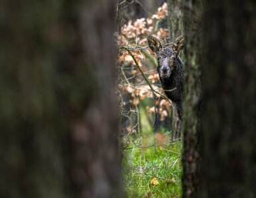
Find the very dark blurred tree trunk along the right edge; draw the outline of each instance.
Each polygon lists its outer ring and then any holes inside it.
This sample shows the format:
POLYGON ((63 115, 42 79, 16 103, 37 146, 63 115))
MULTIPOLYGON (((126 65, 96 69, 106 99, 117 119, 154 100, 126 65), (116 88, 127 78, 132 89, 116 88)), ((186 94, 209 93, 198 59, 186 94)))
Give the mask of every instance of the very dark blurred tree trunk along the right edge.
POLYGON ((256 2, 204 7, 200 197, 256 197, 256 2))

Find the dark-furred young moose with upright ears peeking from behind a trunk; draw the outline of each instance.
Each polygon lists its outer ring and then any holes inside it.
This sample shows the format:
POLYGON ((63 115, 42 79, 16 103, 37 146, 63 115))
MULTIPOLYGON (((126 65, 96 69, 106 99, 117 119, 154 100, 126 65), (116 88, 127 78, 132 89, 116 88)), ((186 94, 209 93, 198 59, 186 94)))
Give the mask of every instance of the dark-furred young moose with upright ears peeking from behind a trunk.
POLYGON ((147 36, 149 48, 157 53, 157 72, 159 79, 164 89, 164 93, 176 105, 178 116, 182 117, 182 90, 183 90, 183 75, 184 65, 178 56, 178 53, 183 48, 184 37, 176 38, 172 49, 163 48, 160 41, 153 36, 147 36), (175 90, 172 90, 176 88, 175 90), (170 91, 172 90, 172 91, 170 91))

